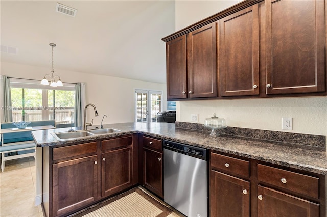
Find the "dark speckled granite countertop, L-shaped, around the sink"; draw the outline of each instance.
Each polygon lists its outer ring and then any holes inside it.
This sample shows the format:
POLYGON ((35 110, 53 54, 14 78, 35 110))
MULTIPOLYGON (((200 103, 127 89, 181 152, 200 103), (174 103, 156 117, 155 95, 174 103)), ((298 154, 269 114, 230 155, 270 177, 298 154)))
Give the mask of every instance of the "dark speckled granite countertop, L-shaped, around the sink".
MULTIPOLYGON (((46 147, 61 144, 68 145, 95 139, 105 139, 137 132, 160 139, 167 139, 210 150, 270 162, 276 165, 327 175, 325 148, 223 134, 219 137, 211 137, 209 132, 176 128, 175 124, 171 123, 106 124, 104 125, 104 128, 119 129, 121 132, 71 140, 56 140, 52 135, 56 132, 67 132, 67 130, 71 128, 32 131, 32 135, 37 147, 46 147)), ((73 129, 80 130, 81 128, 73 127, 73 129)))

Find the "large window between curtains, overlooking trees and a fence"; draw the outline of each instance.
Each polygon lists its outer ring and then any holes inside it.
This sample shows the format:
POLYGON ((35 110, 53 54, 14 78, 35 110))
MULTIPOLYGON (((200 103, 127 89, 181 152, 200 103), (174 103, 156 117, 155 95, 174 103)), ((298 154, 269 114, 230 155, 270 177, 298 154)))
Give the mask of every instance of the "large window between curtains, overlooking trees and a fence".
POLYGON ((33 80, 10 79, 13 122, 56 120, 74 126, 75 84, 52 88, 33 80))

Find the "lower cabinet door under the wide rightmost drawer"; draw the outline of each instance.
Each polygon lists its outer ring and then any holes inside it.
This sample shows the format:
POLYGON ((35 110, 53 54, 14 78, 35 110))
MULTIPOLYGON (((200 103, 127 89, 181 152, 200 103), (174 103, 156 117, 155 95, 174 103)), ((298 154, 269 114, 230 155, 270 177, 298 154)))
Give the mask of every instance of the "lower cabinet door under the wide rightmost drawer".
POLYGON ((258 185, 258 216, 318 217, 319 205, 258 185))

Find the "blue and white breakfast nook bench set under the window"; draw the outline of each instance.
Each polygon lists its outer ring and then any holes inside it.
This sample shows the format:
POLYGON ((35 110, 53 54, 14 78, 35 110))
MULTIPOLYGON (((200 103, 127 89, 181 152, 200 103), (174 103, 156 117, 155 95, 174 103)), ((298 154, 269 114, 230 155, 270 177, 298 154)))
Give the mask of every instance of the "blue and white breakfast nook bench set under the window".
POLYGON ((35 155, 35 143, 31 135, 33 130, 55 128, 55 120, 35 121, 29 124, 26 129, 17 129, 12 123, 2 123, 1 134, 1 171, 5 170, 5 161, 35 155), (33 151, 29 151, 33 150, 33 151), (8 153, 17 152, 15 155, 8 153), (8 156, 6 156, 6 154, 8 156))

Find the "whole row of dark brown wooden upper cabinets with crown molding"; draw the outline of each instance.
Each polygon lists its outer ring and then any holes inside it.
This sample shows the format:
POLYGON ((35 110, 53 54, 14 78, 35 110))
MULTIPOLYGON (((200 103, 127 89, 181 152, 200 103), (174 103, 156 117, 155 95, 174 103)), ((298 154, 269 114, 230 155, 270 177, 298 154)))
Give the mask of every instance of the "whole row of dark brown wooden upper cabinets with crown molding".
POLYGON ((325 8, 322 0, 242 1, 162 38, 167 99, 327 95, 325 8))

